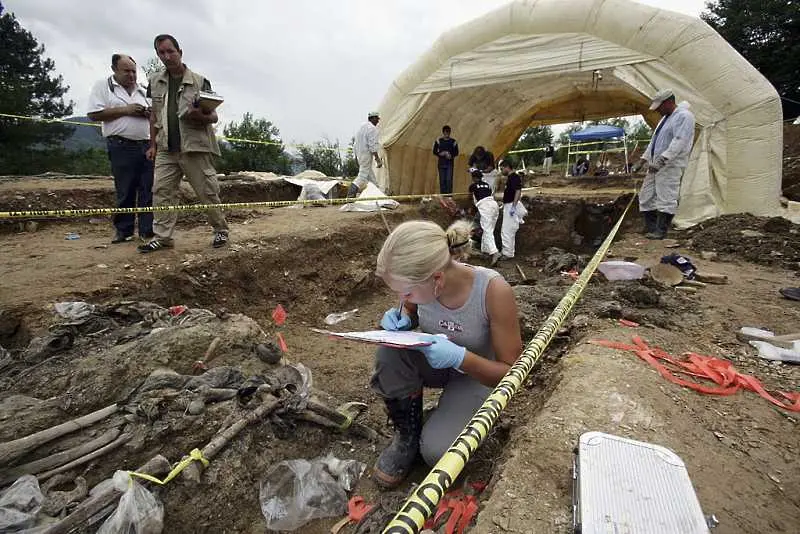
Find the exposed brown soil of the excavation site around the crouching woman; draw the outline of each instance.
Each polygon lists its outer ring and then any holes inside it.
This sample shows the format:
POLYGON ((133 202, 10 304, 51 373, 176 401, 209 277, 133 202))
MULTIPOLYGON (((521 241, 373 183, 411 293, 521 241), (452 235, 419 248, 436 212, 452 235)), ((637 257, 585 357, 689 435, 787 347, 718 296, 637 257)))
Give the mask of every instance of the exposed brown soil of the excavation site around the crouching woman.
MULTIPOLYGON (((49 206, 63 207, 59 203, 72 193, 66 185, 52 185, 57 182, 77 183, 50 181, 44 189, 29 183, 0 184, 0 209, 9 209, 7 203, 17 196, 24 197, 16 201, 25 204, 18 208, 39 206, 47 198, 56 199, 49 206)), ((586 264, 596 239, 621 212, 626 199, 614 202, 617 184, 606 185, 612 189, 590 192, 598 202, 609 200, 601 204, 569 200, 581 191, 589 194, 575 184, 554 195, 561 200, 546 198, 550 196, 546 192, 530 193, 526 201, 530 216, 517 237, 518 257, 499 266, 514 285, 526 341, 572 283, 566 273, 586 264)), ((625 184, 619 185, 624 188, 625 184)), ((272 200, 283 194, 260 193, 260 186, 244 183, 223 187, 230 188, 224 193, 226 201, 272 200)), ((76 187, 74 191, 80 193, 75 193, 74 205, 108 205, 108 189, 107 182, 97 188, 76 187), (88 193, 93 189, 106 196, 90 196, 95 194, 88 193)), ((185 341, 170 344, 169 350, 166 345, 143 342, 111 343, 105 336, 117 331, 112 329, 96 336, 82 334, 71 349, 33 370, 16 365, 12 371, 1 372, 0 439, 26 435, 126 399, 158 368, 189 373, 215 335, 225 338, 227 345, 212 367, 235 367, 246 376, 269 373, 273 366, 256 357, 253 344, 274 341, 279 332, 288 344, 285 358, 311 369, 314 387, 330 395, 325 397, 329 403, 364 402, 368 410, 362 420, 388 430, 381 403, 368 388, 372 350, 309 331, 312 326, 325 327, 328 313, 353 308, 359 309, 355 317, 334 328, 374 328, 385 308, 394 303, 373 275, 375 256, 386 235, 382 219, 336 208, 247 212, 234 219, 231 245, 213 250, 209 229, 200 222, 202 216, 196 217, 181 216, 174 250, 152 255, 137 255, 133 243, 110 245, 107 222, 54 221, 38 231, 2 236, 0 345, 14 354, 21 354, 32 339, 46 333, 54 322, 52 304, 63 300, 98 305, 122 300, 151 301, 164 307, 182 304, 207 308, 218 319, 209 323, 213 328, 189 331, 185 341), (65 240, 67 232, 81 237, 65 240), (279 303, 288 313, 287 323, 280 328, 270 317, 279 303)), ((447 214, 430 207, 422 211, 403 206, 386 215, 392 226, 419 217, 440 223, 449 220, 447 214)), ((603 430, 665 445, 678 453, 687 463, 704 511, 719 517, 718 532, 791 532, 800 517, 796 437, 800 417, 772 408, 751 393, 712 398, 683 390, 630 353, 585 342, 594 337, 629 341, 638 334, 672 354, 693 350, 726 357, 741 371, 761 379, 770 391, 796 391, 796 366, 759 359, 734 334, 741 326, 777 333, 800 331, 800 306, 777 292, 780 287, 797 285, 792 272, 797 268, 791 264, 800 261, 797 227, 749 216, 723 217, 692 234, 679 235, 687 248, 668 249, 665 246, 673 242, 644 240, 635 233, 638 221, 630 219, 623 227, 626 233, 613 246, 613 259, 653 265, 662 255, 679 252, 691 257, 701 271, 728 275, 729 284, 709 285, 690 294, 652 281, 608 282, 596 275, 526 387, 464 473, 469 480, 490 483, 471 531, 569 531, 572 447, 582 432, 603 430), (746 229, 763 236, 742 236, 741 230, 746 229), (762 253, 751 255, 750 249, 758 247, 762 253), (768 262, 759 259, 767 249, 766 257, 772 258, 768 262), (717 260, 699 257, 700 250, 715 250, 717 260), (783 256, 770 255, 772 250, 783 256), (620 318, 641 326, 624 328, 619 326, 620 318)), ((471 261, 485 264, 479 257, 471 261)), ((118 323, 119 328, 129 326, 122 319, 118 323)), ((433 399, 435 395, 427 401, 429 406, 433 399)), ((233 413, 232 402, 209 405, 199 416, 167 411, 145 425, 148 430, 128 445, 68 474, 85 476, 92 485, 115 469, 135 467, 156 453, 175 462, 210 439, 233 413)), ((62 445, 75 444, 87 435, 76 433, 62 445)), ((258 489, 269 466, 283 459, 333 452, 371 468, 381 446, 310 423, 265 421, 243 431, 211 463, 199 486, 174 481, 158 490, 166 508, 165 532, 264 532, 258 489)), ((43 447, 22 460, 40 457, 50 449, 43 447)), ((420 466, 410 482, 419 481, 425 473, 420 466)), ((356 493, 368 500, 378 496, 366 476, 356 493)), ((333 522, 317 521, 302 532, 328 532, 333 522)))

